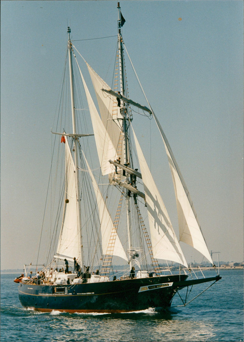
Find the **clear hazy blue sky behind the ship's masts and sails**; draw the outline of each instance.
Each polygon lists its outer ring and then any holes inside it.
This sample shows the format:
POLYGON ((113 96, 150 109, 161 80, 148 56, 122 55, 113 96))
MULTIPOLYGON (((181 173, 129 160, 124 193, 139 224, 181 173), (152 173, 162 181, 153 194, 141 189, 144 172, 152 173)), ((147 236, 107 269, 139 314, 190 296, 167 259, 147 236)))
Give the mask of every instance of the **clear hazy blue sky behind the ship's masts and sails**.
MULTIPOLYGON (((220 252, 220 260, 241 262, 243 1, 120 5, 126 48, 188 185, 208 247, 220 252)), ((1 1, 1 269, 22 268, 39 245, 67 23, 74 40, 116 35, 117 0, 1 1)), ((116 41, 74 43, 106 78, 116 41)), ((133 87, 131 97, 140 102, 133 87)), ((161 158, 153 167, 160 177, 161 158)), ((175 214, 173 201, 163 199, 175 214)))

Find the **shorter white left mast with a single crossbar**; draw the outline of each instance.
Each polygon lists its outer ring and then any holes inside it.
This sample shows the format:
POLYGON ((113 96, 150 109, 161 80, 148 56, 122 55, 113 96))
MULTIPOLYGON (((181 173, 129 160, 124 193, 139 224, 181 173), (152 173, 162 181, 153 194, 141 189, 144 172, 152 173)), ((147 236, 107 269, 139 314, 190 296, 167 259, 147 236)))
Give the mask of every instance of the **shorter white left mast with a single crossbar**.
MULTIPOLYGON (((80 267, 83 267, 83 245, 82 245, 82 235, 81 235, 81 224, 80 224, 80 188, 79 188, 79 177, 78 177, 78 153, 77 153, 77 132, 76 132, 76 117, 75 117, 75 100, 74 100, 74 79, 73 79, 73 65, 72 65, 72 43, 70 40, 71 29, 68 27, 68 60, 70 68, 70 92, 71 92, 71 110, 72 110, 72 125, 73 125, 73 140, 74 140, 74 163, 75 163, 75 186, 76 186, 76 204, 77 204, 77 239, 78 239, 78 260, 80 261, 80 267)), ((76 257, 74 255, 74 257, 76 257)))

